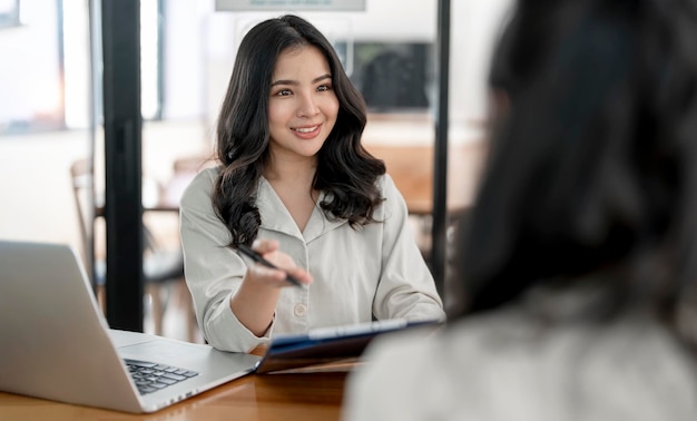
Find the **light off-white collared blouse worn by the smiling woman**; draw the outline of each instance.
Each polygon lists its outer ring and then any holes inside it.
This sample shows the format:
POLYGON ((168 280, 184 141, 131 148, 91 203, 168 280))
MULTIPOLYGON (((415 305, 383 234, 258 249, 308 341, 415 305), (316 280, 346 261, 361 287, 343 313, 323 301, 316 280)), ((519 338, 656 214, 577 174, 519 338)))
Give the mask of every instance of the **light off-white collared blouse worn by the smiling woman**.
POLYGON ((346 221, 327 219, 315 207, 302 233, 262 177, 256 198, 262 217, 258 237, 278 241, 281 251, 308 271, 314 282, 302 288, 283 288, 271 327, 262 337, 254 335, 229 306, 247 263, 226 246, 230 234, 212 203, 216 177, 217 168, 203 170, 180 200, 186 282, 198 324, 216 349, 248 352, 267 343, 272 332, 304 333, 373 319, 445 317, 433 276, 408 223, 406 205, 390 176, 377 180, 385 200, 374 218, 381 222, 353 229, 346 221))

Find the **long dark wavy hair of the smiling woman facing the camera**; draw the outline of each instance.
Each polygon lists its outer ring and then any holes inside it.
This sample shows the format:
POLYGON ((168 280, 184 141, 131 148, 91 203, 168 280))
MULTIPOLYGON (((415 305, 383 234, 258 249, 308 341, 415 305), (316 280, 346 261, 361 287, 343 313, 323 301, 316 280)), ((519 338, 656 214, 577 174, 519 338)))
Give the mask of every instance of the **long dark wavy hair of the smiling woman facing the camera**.
MULTIPOLYGON (((316 47, 326 58, 338 99, 336 124, 317 153, 313 188, 326 193, 318 205, 330 218, 353 228, 373 223, 383 200, 375 182, 384 163, 361 144, 365 102, 330 41, 296 16, 263 21, 244 37, 218 116, 217 158, 223 164, 213 193, 216 213, 232 234, 229 246, 251 244, 262 224, 256 188, 269 159, 268 99, 274 66, 287 49, 316 47)), ((310 194, 310 192, 308 192, 310 194)))

